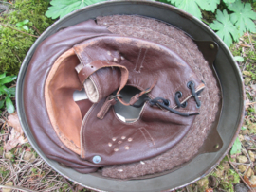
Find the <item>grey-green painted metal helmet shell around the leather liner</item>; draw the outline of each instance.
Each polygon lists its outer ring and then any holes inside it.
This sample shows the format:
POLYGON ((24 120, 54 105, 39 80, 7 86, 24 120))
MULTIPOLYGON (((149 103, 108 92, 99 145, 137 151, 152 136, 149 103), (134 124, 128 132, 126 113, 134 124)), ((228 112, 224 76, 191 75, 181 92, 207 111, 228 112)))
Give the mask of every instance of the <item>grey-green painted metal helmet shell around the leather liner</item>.
POLYGON ((169 191, 193 183, 207 175, 210 170, 222 160, 229 151, 229 148, 231 148, 243 123, 245 110, 244 86, 241 77, 241 72, 226 44, 224 44, 208 26, 194 18, 192 15, 159 2, 137 0, 108 1, 88 6, 68 14, 63 19, 47 28, 35 44, 32 45, 23 62, 18 77, 16 94, 17 111, 22 127, 32 147, 35 148, 49 166, 62 174, 65 178, 98 191, 169 191), (74 26, 88 19, 95 19, 97 16, 114 14, 137 14, 155 18, 182 29, 197 41, 213 41, 219 45, 219 51, 214 61, 214 67, 221 83, 223 108, 220 115, 219 125, 216 126, 216 130, 223 141, 223 145, 222 147, 219 146, 217 151, 197 155, 187 165, 175 169, 168 174, 160 175, 155 178, 130 181, 112 180, 99 177, 97 174, 81 174, 46 158, 31 134, 24 113, 23 83, 27 65, 36 47, 46 39, 46 37, 56 33, 59 29, 74 26))

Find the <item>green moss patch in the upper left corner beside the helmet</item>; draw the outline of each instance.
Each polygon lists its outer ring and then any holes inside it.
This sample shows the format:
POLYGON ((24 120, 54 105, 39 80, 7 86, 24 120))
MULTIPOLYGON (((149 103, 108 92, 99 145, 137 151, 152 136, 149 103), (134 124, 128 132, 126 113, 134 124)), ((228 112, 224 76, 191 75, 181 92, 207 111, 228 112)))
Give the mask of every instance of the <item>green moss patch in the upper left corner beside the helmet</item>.
POLYGON ((45 16, 48 2, 45 0, 16 0, 9 13, 0 17, 0 73, 7 71, 9 75, 17 75, 28 49, 36 38, 23 34, 6 26, 18 29, 18 22, 29 20, 28 31, 39 36, 53 20, 45 16))

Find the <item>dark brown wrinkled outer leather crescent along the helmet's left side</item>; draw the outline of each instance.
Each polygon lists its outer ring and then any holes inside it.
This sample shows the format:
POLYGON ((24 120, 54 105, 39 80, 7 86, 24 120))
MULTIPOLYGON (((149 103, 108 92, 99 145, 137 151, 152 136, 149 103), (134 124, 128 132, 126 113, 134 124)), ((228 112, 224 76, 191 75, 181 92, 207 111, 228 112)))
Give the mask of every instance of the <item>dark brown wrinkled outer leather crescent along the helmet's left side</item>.
POLYGON ((66 148, 51 126, 46 110, 45 82, 52 64, 74 44, 102 35, 112 35, 93 20, 82 22, 46 38, 33 54, 24 82, 24 108, 27 124, 46 157, 70 166, 82 173, 96 171, 101 165, 83 161, 78 154, 66 148))

